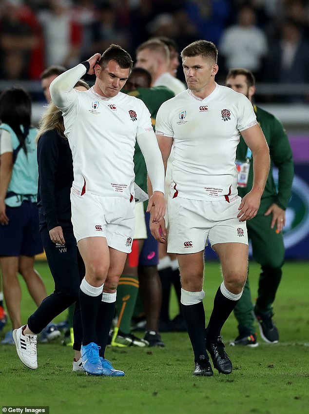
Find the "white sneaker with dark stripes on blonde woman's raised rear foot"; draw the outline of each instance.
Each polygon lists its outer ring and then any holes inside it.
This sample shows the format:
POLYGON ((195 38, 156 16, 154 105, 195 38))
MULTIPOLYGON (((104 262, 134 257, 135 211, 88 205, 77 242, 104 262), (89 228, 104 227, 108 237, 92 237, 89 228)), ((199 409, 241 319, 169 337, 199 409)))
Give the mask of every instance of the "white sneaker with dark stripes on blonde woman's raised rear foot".
POLYGON ((20 361, 28 368, 38 368, 37 340, 38 335, 23 335, 21 326, 13 331, 13 339, 20 361))

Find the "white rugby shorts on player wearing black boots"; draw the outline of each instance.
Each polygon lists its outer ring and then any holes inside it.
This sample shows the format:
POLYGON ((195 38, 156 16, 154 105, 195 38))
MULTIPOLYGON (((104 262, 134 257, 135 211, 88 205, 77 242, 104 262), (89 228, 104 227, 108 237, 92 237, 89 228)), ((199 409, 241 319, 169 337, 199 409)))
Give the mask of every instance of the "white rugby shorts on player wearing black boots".
POLYGON ((168 200, 168 253, 197 253, 217 243, 248 244, 246 222, 237 218, 241 197, 232 202, 170 197, 168 200))

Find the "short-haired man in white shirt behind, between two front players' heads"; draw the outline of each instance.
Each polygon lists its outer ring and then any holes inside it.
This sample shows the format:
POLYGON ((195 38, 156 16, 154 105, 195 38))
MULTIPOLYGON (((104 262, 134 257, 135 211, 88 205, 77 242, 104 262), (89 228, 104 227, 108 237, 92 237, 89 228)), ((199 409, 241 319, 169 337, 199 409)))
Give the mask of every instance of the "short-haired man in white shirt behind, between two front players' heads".
POLYGON ((186 90, 185 85, 170 74, 170 51, 159 39, 150 39, 138 46, 135 67, 148 70, 152 77, 151 86, 166 86, 175 95, 186 90))

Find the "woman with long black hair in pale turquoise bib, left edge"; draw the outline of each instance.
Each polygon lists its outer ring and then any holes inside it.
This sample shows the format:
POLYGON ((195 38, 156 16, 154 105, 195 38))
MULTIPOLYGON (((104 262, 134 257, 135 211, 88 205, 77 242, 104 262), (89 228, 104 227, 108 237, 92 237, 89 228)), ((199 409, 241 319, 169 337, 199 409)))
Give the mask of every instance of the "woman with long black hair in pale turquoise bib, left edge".
MULTIPOLYGON (((21 323, 21 288, 17 274, 39 306, 46 290, 34 269, 42 253, 37 207, 37 130, 31 126, 31 99, 21 88, 0 96, 0 267, 3 294, 13 329, 21 323)), ((14 344, 12 331, 2 343, 14 344)))

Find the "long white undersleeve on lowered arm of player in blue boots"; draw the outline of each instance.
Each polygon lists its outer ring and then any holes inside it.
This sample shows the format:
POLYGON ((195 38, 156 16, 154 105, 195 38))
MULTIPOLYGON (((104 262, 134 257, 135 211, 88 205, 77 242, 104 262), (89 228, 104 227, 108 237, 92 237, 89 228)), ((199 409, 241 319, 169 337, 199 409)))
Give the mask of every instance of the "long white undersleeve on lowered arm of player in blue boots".
POLYGON ((164 194, 164 164, 154 131, 143 132, 136 140, 145 158, 153 191, 161 191, 164 194))

